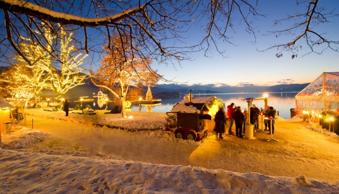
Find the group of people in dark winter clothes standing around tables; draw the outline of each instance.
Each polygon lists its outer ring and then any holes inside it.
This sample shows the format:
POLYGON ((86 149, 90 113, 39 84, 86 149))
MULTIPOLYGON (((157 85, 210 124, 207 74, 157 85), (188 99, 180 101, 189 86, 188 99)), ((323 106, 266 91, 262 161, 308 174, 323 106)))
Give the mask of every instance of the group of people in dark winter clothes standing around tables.
MULTIPOLYGON (((277 111, 271 107, 268 106, 267 109, 264 112, 264 116, 267 117, 267 119, 264 119, 265 129, 269 130, 271 129, 271 122, 272 122, 272 133, 274 134, 274 118, 276 117, 277 111), (268 119, 273 118, 273 119, 268 119), (267 129, 268 127, 268 129, 267 129)), ((225 116, 224 109, 221 107, 219 108, 219 111, 216 113, 215 116, 215 128, 213 129, 216 132, 216 138, 223 139, 222 133, 226 132, 226 123, 228 122, 228 134, 234 135, 232 132, 232 126, 233 123, 235 123, 235 135, 237 137, 243 137, 243 133, 245 133, 245 125, 249 119, 249 123, 254 125, 254 129, 259 129, 259 115, 261 114, 261 111, 258 107, 255 106, 255 104, 252 105, 252 107, 249 109, 249 118, 248 118, 248 112, 244 111, 242 112, 240 106, 235 106, 232 102, 229 106, 227 106, 227 118, 225 116), (227 122, 226 122, 227 121, 227 122)), ((271 132, 267 133, 271 134, 271 132)))

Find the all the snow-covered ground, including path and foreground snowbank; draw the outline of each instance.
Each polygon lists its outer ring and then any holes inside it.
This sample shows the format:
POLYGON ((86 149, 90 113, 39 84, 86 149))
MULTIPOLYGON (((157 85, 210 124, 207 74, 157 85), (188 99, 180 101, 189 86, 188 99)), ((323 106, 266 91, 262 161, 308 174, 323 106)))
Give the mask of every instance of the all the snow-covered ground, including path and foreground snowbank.
POLYGON ((280 119, 278 143, 259 131, 193 142, 141 130, 165 113, 104 112, 25 110, 27 127, 1 135, 0 193, 339 193, 339 138, 317 124, 280 119))

